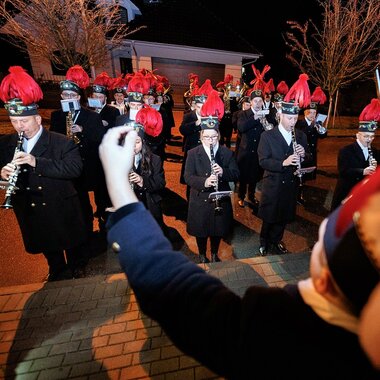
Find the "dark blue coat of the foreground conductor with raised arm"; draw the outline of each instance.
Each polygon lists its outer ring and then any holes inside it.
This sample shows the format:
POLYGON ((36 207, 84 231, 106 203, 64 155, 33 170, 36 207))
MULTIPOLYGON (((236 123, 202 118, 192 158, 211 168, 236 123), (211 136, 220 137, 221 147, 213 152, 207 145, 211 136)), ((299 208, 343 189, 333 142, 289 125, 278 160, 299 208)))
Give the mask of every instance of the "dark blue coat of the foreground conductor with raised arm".
POLYGON ((141 203, 108 225, 140 308, 173 343, 226 379, 375 379, 357 335, 322 320, 297 285, 243 297, 173 251, 141 203))

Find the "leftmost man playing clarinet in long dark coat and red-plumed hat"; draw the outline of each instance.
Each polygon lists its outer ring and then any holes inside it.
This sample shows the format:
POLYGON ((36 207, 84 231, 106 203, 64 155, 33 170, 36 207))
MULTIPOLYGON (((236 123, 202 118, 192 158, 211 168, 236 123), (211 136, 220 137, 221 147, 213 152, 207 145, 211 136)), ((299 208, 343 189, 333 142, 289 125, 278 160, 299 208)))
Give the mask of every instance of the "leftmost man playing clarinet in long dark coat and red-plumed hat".
POLYGON ((55 281, 83 275, 88 262, 86 228, 73 183, 83 163, 72 140, 42 127, 37 105, 42 96, 22 67, 9 68, 0 98, 17 133, 0 139, 0 167, 5 181, 19 171, 11 206, 25 250, 45 256, 48 281, 55 281), (22 146, 16 152, 20 136, 22 146))

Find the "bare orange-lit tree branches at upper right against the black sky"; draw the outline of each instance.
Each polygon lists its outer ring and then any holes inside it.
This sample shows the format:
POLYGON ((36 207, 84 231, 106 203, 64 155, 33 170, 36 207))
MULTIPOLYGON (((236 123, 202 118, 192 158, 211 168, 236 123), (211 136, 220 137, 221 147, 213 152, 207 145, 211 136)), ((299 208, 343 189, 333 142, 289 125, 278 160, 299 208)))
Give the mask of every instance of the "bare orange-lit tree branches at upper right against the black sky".
POLYGON ((356 80, 373 78, 380 54, 378 0, 324 0, 323 21, 288 21, 287 58, 310 80, 335 93, 356 80))

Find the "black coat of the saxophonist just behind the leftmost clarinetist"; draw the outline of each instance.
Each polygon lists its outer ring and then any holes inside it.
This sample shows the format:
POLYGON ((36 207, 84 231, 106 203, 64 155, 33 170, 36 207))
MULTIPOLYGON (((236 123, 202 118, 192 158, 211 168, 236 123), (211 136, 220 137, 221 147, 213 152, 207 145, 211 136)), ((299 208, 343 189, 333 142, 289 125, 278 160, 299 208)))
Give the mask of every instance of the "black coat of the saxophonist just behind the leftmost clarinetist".
MULTIPOLYGON (((52 112, 50 131, 66 135, 66 112, 57 110, 52 112)), ((83 160, 83 175, 81 182, 87 190, 94 190, 99 183, 104 182, 104 174, 99 159, 99 145, 102 142, 106 128, 98 113, 81 108, 75 124, 83 127, 80 138, 79 152, 83 160)))

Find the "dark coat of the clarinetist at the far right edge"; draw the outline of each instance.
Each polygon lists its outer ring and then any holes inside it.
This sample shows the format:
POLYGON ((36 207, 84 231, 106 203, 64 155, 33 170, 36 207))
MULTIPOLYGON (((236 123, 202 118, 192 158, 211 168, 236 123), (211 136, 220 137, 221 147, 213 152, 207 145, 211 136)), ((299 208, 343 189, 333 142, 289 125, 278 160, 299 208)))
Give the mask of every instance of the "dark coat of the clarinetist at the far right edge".
MULTIPOLYGON (((379 152, 372 148, 373 156, 379 162, 379 152)), ((355 141, 346 145, 338 153, 338 181, 335 186, 331 211, 337 208, 351 189, 363 178, 363 170, 369 166, 362 148, 355 141)))

